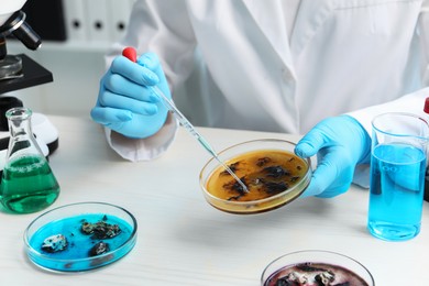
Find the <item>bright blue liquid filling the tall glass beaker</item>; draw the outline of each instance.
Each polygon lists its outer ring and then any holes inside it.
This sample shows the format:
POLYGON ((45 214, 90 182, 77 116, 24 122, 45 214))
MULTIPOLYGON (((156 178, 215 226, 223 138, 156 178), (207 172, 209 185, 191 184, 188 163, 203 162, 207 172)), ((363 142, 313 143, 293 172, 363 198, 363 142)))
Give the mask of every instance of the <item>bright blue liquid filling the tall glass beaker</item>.
POLYGON ((367 228, 380 239, 404 241, 420 232, 426 155, 402 144, 380 145, 371 157, 367 228))

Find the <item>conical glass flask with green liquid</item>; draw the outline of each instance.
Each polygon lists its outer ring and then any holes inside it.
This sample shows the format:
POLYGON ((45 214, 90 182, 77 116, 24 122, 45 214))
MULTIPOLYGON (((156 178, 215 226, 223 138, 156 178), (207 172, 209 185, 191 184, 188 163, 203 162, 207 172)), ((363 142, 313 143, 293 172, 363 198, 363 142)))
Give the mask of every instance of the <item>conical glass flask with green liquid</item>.
POLYGON ((6 112, 10 141, 0 185, 0 202, 15 213, 51 206, 59 185, 31 131, 32 111, 12 108, 6 112))

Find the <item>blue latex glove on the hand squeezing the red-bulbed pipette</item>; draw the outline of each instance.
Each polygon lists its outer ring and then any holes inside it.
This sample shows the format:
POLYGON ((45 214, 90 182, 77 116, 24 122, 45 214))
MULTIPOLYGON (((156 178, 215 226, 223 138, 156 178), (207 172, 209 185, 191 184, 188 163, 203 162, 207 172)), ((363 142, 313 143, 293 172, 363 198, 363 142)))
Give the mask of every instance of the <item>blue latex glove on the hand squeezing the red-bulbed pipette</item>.
POLYGON ((155 134, 164 125, 168 110, 147 88, 154 85, 172 98, 155 54, 143 54, 138 64, 118 56, 101 78, 97 105, 91 110, 94 121, 128 138, 155 134))

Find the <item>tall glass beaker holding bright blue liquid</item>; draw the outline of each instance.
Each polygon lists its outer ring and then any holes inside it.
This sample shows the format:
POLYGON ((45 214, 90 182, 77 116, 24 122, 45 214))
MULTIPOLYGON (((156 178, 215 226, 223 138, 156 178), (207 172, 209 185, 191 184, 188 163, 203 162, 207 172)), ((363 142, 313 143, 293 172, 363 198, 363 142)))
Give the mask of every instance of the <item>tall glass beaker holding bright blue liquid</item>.
POLYGON ((369 231, 387 241, 413 239, 420 232, 429 124, 391 112, 372 127, 369 231))

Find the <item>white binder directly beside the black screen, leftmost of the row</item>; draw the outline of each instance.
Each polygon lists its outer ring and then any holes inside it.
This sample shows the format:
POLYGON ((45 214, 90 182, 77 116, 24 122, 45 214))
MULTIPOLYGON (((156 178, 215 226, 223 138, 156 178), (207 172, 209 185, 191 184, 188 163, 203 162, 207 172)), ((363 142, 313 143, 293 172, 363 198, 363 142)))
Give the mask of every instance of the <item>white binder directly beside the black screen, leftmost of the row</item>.
POLYGON ((69 41, 88 41, 88 19, 85 10, 87 0, 63 0, 66 32, 69 41))

